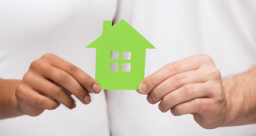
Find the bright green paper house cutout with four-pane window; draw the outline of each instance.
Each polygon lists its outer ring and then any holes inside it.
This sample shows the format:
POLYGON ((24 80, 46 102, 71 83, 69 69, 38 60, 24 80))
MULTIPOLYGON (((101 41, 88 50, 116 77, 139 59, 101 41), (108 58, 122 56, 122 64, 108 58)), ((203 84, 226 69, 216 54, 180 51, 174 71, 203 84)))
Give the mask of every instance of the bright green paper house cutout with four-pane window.
POLYGON ((155 47, 125 20, 103 22, 103 34, 87 48, 96 48, 95 79, 104 90, 137 90, 144 79, 146 49, 155 47))

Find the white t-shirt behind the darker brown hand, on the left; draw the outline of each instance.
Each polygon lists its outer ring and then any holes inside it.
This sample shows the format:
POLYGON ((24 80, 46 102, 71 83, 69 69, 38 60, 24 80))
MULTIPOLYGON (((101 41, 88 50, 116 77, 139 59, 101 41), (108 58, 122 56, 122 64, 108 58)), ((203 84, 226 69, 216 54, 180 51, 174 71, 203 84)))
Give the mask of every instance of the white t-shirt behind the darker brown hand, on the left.
MULTIPOLYGON (((115 11, 116 0, 0 1, 0 77, 22 79, 30 63, 47 52, 94 77, 95 54, 86 46, 115 11)), ((0 135, 109 135, 104 92, 91 96, 89 105, 75 99, 72 110, 60 105, 38 117, 0 120, 0 135)))

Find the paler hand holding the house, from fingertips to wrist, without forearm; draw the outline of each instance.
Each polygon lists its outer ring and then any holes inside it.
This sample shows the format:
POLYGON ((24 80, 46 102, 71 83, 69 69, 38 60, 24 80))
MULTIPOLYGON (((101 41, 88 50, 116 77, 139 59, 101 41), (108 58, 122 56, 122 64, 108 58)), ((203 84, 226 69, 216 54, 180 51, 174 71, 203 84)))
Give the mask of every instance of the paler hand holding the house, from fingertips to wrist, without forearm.
POLYGON ((193 114, 206 129, 221 126, 226 119, 226 99, 220 71, 207 55, 181 59, 147 76, 139 85, 140 94, 148 94, 151 104, 174 116, 193 114))

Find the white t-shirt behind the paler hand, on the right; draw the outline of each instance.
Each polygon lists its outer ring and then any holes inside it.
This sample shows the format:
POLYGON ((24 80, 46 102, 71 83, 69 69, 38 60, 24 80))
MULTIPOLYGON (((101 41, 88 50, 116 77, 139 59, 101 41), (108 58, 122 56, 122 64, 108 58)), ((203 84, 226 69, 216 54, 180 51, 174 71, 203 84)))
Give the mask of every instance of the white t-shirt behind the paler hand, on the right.
MULTIPOLYGON (((209 54, 222 77, 256 64, 255 0, 121 0, 115 22, 126 20, 156 49, 147 49, 145 75, 193 54, 209 54)), ((256 125, 206 130, 192 115, 161 113, 136 91, 108 90, 111 134, 256 135, 256 125)))

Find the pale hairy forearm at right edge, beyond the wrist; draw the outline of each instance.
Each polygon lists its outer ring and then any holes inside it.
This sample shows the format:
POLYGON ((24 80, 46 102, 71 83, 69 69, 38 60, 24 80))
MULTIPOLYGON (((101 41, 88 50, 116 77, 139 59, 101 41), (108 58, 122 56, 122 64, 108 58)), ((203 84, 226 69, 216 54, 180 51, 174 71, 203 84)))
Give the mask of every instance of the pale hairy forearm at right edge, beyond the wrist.
POLYGON ((256 123, 256 66, 247 73, 222 81, 227 101, 223 126, 256 123))

